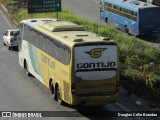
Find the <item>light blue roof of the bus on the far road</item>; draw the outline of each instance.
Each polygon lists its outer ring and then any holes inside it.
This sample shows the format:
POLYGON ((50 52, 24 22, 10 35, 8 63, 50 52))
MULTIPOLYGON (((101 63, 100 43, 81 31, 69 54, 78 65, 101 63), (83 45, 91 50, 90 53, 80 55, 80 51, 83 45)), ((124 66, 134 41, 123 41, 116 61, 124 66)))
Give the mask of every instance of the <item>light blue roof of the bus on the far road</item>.
POLYGON ((148 4, 139 0, 104 0, 108 1, 109 3, 113 3, 115 5, 123 6, 125 8, 128 8, 130 10, 138 11, 139 9, 145 9, 145 8, 153 8, 157 7, 152 4, 148 4))

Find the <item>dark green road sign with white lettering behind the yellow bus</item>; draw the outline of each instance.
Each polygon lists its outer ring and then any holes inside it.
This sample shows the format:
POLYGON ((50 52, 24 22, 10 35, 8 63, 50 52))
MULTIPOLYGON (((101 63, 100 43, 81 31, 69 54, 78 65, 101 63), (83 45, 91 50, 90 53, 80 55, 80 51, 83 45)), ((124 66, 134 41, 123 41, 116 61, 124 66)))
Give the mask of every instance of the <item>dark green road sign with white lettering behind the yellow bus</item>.
POLYGON ((28 0, 28 14, 60 11, 61 0, 28 0))

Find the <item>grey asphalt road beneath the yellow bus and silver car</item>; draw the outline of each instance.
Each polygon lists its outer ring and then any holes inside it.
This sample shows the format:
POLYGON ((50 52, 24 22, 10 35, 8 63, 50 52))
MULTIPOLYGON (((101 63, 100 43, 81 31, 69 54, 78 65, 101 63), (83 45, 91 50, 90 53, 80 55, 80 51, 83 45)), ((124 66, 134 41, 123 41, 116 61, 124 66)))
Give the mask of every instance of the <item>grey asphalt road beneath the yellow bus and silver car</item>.
MULTIPOLYGON (((0 10, 0 39, 6 29, 15 28, 9 19, 0 10)), ((82 109, 81 109, 82 110, 82 109)), ((91 110, 91 109, 87 109, 91 110)), ((105 105, 95 111, 145 111, 142 106, 135 104, 125 96, 120 95, 117 103, 105 105)), ((0 40, 0 111, 77 111, 81 117, 42 118, 44 120, 87 120, 97 119, 79 112, 71 106, 60 106, 50 95, 50 91, 33 77, 28 77, 18 64, 18 52, 9 51, 0 40)), ((17 118, 12 118, 12 120, 17 118)), ((124 117, 111 117, 112 120, 124 120, 124 117)), ((145 118, 130 117, 131 120, 144 120, 145 118)), ((148 118, 149 119, 149 118, 148 118)), ((0 118, 8 120, 8 118, 0 118)), ((31 119, 35 120, 35 118, 31 119)), ((127 119, 128 120, 128 119, 127 119)))

